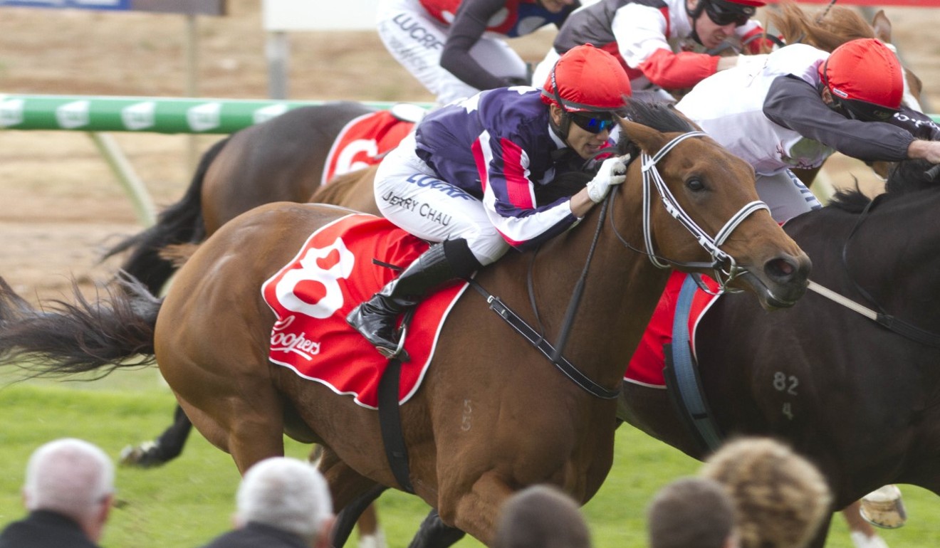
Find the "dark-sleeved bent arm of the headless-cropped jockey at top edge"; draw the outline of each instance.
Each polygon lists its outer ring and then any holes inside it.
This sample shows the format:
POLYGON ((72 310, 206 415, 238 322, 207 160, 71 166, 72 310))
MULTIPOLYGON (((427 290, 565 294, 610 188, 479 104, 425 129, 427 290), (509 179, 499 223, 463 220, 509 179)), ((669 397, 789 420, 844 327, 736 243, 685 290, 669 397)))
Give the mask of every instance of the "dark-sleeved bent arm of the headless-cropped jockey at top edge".
POLYGON ((477 89, 528 84, 495 76, 470 55, 470 49, 486 32, 487 22, 503 8, 506 8, 506 0, 464 0, 447 31, 441 67, 477 89))

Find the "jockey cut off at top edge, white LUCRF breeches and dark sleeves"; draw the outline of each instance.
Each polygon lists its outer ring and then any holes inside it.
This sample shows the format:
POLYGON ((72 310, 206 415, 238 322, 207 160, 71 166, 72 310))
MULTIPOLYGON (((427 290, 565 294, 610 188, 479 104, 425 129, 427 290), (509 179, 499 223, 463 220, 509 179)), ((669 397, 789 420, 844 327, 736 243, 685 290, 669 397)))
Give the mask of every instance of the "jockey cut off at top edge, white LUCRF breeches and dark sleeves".
POLYGON ((529 83, 525 61, 503 38, 560 27, 577 0, 380 0, 379 36, 437 98, 529 83))

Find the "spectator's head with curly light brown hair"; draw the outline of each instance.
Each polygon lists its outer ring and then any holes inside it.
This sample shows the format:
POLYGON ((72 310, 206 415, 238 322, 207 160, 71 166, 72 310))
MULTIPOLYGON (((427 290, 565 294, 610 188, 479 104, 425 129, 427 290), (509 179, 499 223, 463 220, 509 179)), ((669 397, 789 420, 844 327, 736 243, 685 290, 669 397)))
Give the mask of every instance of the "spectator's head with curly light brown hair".
POLYGON ((770 438, 744 437, 719 447, 701 476, 731 495, 744 548, 806 546, 832 512, 819 469, 770 438))

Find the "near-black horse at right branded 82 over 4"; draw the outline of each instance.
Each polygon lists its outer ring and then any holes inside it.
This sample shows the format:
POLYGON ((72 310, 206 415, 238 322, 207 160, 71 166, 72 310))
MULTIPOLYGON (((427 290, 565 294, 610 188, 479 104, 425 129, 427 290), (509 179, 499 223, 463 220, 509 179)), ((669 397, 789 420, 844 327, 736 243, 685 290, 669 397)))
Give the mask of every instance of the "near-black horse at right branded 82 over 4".
MULTIPOLYGON (((940 494, 940 185, 929 166, 901 163, 885 195, 840 193, 784 227, 813 281, 901 321, 901 333, 815 293, 779 314, 725 295, 698 324, 721 431, 789 442, 821 467, 837 509, 890 483, 940 494)), ((666 390, 625 383, 619 403, 635 427, 704 456, 666 390)))

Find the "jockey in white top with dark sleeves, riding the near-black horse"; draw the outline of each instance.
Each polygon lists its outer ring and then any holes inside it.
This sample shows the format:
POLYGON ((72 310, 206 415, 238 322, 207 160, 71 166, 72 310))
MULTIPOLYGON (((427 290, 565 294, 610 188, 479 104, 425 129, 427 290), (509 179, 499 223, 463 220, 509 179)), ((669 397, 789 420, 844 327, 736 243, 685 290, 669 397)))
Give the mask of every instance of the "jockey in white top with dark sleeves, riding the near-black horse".
POLYGON ((821 207, 790 169, 818 167, 837 150, 866 162, 940 163, 940 128, 901 105, 903 89, 897 56, 877 39, 832 55, 792 44, 762 66, 703 80, 676 108, 754 167, 760 198, 783 222, 821 207))

